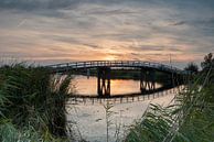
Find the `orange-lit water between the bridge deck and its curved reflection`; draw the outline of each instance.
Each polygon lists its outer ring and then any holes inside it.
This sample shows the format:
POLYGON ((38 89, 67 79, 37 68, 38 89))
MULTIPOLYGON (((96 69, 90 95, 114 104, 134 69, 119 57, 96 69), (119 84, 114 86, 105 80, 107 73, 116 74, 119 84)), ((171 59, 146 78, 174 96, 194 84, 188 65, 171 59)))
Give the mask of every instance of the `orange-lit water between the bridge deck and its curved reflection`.
MULTIPOLYGON (((97 95, 97 77, 89 77, 75 75, 73 83, 77 95, 97 95)), ((157 84, 157 87, 161 85, 157 84)), ((133 79, 111 79, 110 80, 111 95, 124 95, 140 92, 140 81, 133 79)))

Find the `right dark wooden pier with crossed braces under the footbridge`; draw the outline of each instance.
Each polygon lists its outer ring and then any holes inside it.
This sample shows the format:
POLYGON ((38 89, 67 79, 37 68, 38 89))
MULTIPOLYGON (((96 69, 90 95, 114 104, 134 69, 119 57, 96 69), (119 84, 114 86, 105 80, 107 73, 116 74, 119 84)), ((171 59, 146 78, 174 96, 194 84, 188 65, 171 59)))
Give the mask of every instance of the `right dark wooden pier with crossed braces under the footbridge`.
POLYGON ((156 89, 156 70, 141 68, 140 70, 140 90, 142 94, 156 89))

